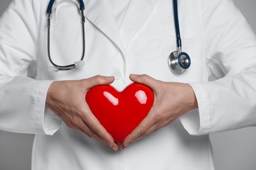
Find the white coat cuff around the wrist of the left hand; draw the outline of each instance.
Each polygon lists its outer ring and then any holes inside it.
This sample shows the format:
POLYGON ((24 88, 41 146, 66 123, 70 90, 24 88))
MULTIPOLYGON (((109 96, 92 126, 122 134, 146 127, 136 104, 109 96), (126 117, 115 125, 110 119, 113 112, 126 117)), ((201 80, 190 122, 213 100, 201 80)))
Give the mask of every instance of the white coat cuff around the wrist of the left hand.
POLYGON ((41 135, 53 135, 60 129, 62 123, 62 120, 56 116, 56 114, 50 109, 45 108, 47 91, 52 82, 53 81, 50 80, 43 81, 37 95, 37 102, 33 115, 33 126, 36 129, 37 134, 41 135))

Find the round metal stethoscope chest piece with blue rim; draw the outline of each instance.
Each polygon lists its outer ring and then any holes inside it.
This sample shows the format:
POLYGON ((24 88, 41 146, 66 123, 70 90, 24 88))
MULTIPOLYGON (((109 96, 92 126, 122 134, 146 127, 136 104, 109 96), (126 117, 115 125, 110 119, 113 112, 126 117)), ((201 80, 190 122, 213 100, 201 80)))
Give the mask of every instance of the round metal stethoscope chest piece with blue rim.
POLYGON ((175 75, 184 73, 190 67, 190 63, 190 57, 186 52, 172 52, 168 59, 169 68, 175 75))

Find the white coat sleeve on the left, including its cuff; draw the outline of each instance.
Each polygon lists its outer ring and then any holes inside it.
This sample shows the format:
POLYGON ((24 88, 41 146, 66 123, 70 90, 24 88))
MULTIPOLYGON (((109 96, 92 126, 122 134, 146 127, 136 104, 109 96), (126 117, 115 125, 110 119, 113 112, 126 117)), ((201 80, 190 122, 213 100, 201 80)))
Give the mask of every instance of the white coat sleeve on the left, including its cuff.
POLYGON ((0 20, 0 129, 52 135, 61 123, 45 109, 52 81, 28 76, 38 55, 33 6, 32 0, 14 0, 0 20))

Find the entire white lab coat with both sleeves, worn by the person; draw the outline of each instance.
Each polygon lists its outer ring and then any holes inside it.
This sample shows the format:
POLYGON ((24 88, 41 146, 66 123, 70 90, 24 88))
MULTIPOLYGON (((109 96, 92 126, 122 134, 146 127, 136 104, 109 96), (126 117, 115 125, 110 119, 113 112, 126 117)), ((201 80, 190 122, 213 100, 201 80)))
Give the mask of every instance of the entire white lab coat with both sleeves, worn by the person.
MULTIPOLYGON (((79 10, 72 0, 56 2, 51 54, 60 65, 74 63, 82 49, 79 10)), ((182 50, 192 59, 180 76, 167 65, 176 50, 171 0, 131 0, 120 27, 106 2, 86 0, 85 67, 59 73, 48 69, 48 3, 14 0, 0 24, 0 129, 35 134, 33 170, 214 169, 207 134, 256 125, 256 39, 232 1, 179 1, 182 50), (190 83, 199 109, 117 152, 45 109, 53 80, 116 75, 112 85, 122 90, 131 73, 190 83)))

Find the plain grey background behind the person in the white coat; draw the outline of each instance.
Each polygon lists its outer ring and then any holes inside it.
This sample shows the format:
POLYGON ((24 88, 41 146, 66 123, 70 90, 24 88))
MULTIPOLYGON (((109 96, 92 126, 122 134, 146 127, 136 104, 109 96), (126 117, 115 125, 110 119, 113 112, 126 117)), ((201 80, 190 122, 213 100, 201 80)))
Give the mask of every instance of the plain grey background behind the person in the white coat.
MULTIPOLYGON (((234 1, 256 33, 256 1, 234 1)), ((11 0, 0 1, 0 16, 9 3, 11 0)), ((210 137, 216 170, 256 169, 256 127, 215 133, 210 137)), ((32 144, 33 135, 0 131, 0 170, 29 170, 32 144)))

